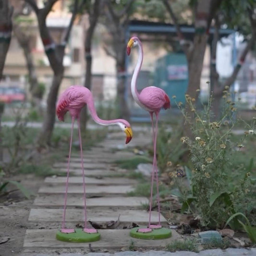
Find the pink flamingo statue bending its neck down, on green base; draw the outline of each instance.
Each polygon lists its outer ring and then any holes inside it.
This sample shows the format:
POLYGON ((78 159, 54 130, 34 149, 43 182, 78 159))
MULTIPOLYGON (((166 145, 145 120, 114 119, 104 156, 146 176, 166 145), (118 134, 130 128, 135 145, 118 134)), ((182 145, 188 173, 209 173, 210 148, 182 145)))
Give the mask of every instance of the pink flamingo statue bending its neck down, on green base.
POLYGON ((79 85, 73 85, 67 88, 60 96, 57 103, 56 113, 60 121, 64 121, 64 115, 67 111, 70 112, 72 117, 72 130, 70 138, 70 148, 69 148, 69 158, 68 158, 68 168, 67 168, 67 182, 64 197, 64 210, 63 210, 63 220, 61 225, 61 231, 58 231, 56 238, 64 242, 93 242, 100 239, 100 234, 96 229, 87 228, 86 219, 86 194, 85 194, 85 170, 84 170, 84 160, 82 151, 82 140, 80 131, 80 113, 82 108, 87 104, 87 107, 91 113, 93 120, 102 125, 112 125, 117 124, 126 134, 126 144, 132 139, 133 132, 129 122, 123 119, 115 120, 102 120, 98 117, 92 93, 89 89, 79 85), (81 153, 81 167, 83 176, 83 190, 84 190, 84 207, 85 207, 85 228, 83 230, 79 229, 66 229, 65 227, 65 216, 66 216, 66 205, 67 205, 67 193, 68 193, 68 182, 69 182, 69 167, 70 167, 70 156, 73 138, 73 127, 74 121, 77 120, 78 133, 79 133, 79 143, 80 143, 80 153, 81 153))

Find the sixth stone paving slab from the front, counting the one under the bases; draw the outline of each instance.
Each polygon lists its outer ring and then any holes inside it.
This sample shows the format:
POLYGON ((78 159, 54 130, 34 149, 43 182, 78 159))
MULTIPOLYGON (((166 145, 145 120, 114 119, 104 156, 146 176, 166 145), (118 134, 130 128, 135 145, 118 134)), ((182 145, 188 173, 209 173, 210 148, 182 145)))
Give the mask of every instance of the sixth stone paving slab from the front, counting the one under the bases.
MULTIPOLYGON (((60 172, 67 172, 67 169, 66 168, 53 168, 56 173, 58 173, 58 171, 60 172)), ((82 174, 82 170, 81 169, 70 169, 70 173, 71 175, 78 175, 78 176, 81 176, 82 174)), ((98 177, 98 176, 115 176, 115 175, 118 175, 118 174, 122 174, 122 173, 125 173, 125 171, 111 171, 111 170, 85 170, 85 176, 95 176, 95 177, 98 177)))

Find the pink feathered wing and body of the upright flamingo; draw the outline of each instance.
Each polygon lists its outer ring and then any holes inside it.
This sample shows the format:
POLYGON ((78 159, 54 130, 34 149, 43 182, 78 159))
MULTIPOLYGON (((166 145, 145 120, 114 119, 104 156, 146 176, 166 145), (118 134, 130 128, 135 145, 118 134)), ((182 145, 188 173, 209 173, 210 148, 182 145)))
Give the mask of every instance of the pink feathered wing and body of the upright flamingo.
POLYGON ((161 108, 169 109, 171 107, 170 98, 164 90, 155 86, 149 86, 144 88, 140 95, 139 100, 151 111, 157 111, 161 108))

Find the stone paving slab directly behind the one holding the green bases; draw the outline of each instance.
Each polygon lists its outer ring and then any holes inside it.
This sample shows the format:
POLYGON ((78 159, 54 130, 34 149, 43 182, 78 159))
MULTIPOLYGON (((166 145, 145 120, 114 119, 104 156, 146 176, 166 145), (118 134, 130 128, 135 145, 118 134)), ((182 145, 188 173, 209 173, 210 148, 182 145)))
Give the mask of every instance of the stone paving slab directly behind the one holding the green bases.
MULTIPOLYGON (((28 217, 28 221, 44 222, 44 221, 59 221, 62 220, 62 209, 31 209, 28 217)), ((148 222, 148 212, 146 210, 87 210, 87 219, 95 222, 107 222, 110 220, 117 220, 120 215, 120 222, 135 222, 137 224, 145 224, 148 222)), ((83 209, 67 209, 66 221, 83 221, 84 210, 83 209)), ((160 215, 161 223, 167 223, 167 220, 160 215)), ((158 212, 152 211, 152 222, 158 222, 158 212)))

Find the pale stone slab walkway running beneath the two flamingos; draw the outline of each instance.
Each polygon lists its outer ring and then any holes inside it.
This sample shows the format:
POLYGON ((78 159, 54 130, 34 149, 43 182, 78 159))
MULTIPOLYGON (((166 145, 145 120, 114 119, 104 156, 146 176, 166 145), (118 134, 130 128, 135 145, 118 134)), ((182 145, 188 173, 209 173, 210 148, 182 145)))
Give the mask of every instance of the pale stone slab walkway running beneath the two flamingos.
MULTIPOLYGON (((150 133, 147 136, 137 136, 129 146, 144 145, 151 140, 150 133)), ((55 234, 61 228, 62 206, 64 201, 64 177, 47 177, 45 182, 38 189, 38 195, 31 209, 28 222, 35 229, 26 231, 24 238, 24 250, 22 256, 110 256, 111 252, 115 256, 230 256, 230 255, 256 255, 256 250, 228 249, 201 251, 199 254, 193 252, 152 251, 164 250, 167 244, 173 240, 181 239, 181 236, 172 231, 172 237, 165 240, 138 240, 129 236, 129 230, 123 229, 131 225, 146 224, 148 213, 142 209, 142 204, 148 203, 145 197, 129 197, 127 192, 133 191, 136 184, 135 180, 120 178, 120 174, 127 172, 113 165, 113 160, 130 158, 134 154, 123 148, 123 134, 110 134, 104 142, 99 143, 90 151, 84 152, 85 156, 85 175, 86 175, 86 194, 87 194, 87 216, 88 220, 98 223, 106 223, 117 220, 120 215, 120 225, 116 230, 99 230, 100 241, 89 244, 64 243, 57 241, 55 234), (123 148, 112 153, 116 147, 123 148), (131 243, 136 248, 145 251, 129 251, 131 243), (150 251, 151 249, 151 251, 150 251), (236 250, 236 251, 234 251, 236 250), (92 253, 94 251, 97 253, 92 253), (246 253, 246 254, 244 254, 246 253), (254 253, 254 254, 253 254, 254 253)), ((83 192, 82 176, 79 155, 72 155, 71 171, 73 177, 69 180, 66 226, 74 228, 76 225, 83 225, 83 192)), ((54 165, 56 170, 65 170, 67 158, 54 165)), ((152 221, 157 222, 157 212, 153 212, 152 221)), ((161 216, 162 225, 168 227, 167 220, 161 216)))

